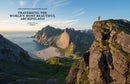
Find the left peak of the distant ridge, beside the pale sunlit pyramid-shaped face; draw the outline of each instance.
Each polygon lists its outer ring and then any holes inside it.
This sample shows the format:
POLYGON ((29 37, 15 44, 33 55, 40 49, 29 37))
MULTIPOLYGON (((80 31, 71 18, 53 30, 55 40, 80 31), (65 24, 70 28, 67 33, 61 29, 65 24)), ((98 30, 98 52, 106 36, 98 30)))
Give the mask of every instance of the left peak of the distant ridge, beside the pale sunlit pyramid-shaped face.
POLYGON ((59 35, 63 32, 61 29, 55 29, 48 25, 35 34, 34 41, 45 46, 55 45, 59 35))

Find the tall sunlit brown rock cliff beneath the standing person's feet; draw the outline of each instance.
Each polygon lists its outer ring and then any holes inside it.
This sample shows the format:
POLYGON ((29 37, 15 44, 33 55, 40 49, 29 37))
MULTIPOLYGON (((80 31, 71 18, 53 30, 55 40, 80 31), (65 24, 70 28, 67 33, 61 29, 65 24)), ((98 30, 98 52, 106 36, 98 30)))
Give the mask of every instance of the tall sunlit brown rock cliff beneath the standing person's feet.
POLYGON ((82 62, 72 65, 65 84, 130 84, 130 22, 97 21, 92 29, 95 41, 82 62))

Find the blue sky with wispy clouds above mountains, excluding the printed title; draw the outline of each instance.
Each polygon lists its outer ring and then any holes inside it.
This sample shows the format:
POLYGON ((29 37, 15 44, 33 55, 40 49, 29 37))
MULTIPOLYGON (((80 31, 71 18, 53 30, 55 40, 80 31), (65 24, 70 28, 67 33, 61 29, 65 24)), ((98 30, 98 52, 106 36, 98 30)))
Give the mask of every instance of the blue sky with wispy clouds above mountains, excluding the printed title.
MULTIPOLYGON (((130 0, 1 0, 0 31, 39 30, 46 25, 58 28, 72 27, 90 29, 94 21, 101 16, 105 19, 127 19, 130 21, 130 0), (37 21, 30 26, 28 21, 10 18, 17 8, 48 8, 55 18, 37 21)), ((35 21, 34 21, 35 22, 35 21)))

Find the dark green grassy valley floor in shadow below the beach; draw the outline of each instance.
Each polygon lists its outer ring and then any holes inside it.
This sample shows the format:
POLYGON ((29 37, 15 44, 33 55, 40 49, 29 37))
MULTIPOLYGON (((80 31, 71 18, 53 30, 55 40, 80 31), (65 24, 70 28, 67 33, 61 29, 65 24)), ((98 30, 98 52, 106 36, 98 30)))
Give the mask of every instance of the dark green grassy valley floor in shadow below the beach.
POLYGON ((10 80, 11 84, 33 84, 35 81, 34 84, 44 84, 49 79, 56 79, 56 84, 64 84, 64 79, 74 61, 72 58, 53 57, 47 61, 33 60, 28 62, 26 66, 19 63, 6 62, 5 64, 3 61, 2 64, 5 65, 0 67, 0 74, 3 74, 0 75, 0 82, 10 80))

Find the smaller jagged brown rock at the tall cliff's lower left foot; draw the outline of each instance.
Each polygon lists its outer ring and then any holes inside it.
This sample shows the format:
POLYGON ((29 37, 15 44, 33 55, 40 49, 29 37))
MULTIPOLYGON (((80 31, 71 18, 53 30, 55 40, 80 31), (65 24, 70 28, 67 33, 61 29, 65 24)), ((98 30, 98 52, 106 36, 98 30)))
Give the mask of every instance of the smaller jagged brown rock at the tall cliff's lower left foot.
POLYGON ((69 71, 68 76, 65 79, 65 84, 80 84, 84 81, 84 84, 87 84, 88 77, 85 77, 85 75, 88 75, 88 67, 85 64, 84 61, 75 62, 69 71))

